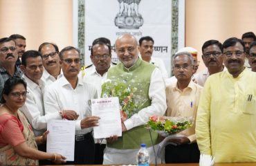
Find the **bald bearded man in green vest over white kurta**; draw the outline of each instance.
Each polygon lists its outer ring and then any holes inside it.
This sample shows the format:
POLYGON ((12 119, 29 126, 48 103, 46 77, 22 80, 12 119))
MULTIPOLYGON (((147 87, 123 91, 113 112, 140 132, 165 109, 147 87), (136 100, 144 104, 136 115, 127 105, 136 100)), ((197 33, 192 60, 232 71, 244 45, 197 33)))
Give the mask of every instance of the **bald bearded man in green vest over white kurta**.
MULTIPOLYGON (((122 117, 122 137, 107 139, 103 164, 136 164, 136 154, 141 143, 147 144, 150 163, 154 162, 154 153, 149 131, 144 125, 149 116, 163 115, 166 110, 165 83, 161 72, 153 64, 138 57, 138 42, 132 35, 125 34, 116 40, 116 53, 121 63, 109 68, 109 80, 121 80, 137 89, 134 98, 145 101, 137 109, 122 117), (138 86, 136 86, 138 85, 138 86)), ((132 88, 132 87, 131 87, 132 88)), ((136 100, 136 99, 135 99, 136 100)), ((157 133, 152 133, 156 145, 157 133)))

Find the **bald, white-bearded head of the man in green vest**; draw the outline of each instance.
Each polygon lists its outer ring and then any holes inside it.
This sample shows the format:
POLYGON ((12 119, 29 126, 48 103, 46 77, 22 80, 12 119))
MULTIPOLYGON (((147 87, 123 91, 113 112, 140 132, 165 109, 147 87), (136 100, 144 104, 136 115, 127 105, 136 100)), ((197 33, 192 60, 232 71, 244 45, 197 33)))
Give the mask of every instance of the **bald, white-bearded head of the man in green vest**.
POLYGON ((126 68, 133 66, 138 59, 138 42, 136 37, 125 34, 116 39, 116 53, 118 59, 126 68))

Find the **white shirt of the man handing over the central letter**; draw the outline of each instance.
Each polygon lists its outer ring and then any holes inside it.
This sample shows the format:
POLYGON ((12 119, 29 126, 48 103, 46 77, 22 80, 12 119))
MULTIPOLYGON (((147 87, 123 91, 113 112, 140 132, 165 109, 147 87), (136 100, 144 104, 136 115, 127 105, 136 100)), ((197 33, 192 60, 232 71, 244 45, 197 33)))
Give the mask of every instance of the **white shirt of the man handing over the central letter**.
POLYGON ((77 86, 73 89, 66 77, 60 77, 48 86, 44 94, 46 116, 62 119, 59 111, 73 110, 79 115, 75 123, 75 134, 89 133, 92 128, 81 129, 80 123, 86 116, 91 116, 89 100, 92 98, 97 98, 97 91, 91 84, 78 77, 77 86))

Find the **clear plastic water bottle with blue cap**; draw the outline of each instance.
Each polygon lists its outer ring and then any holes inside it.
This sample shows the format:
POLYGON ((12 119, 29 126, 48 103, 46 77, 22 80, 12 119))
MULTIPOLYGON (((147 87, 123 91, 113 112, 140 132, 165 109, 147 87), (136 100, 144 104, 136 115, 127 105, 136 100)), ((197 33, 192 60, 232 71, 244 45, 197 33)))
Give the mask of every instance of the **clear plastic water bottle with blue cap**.
POLYGON ((149 166, 149 152, 147 151, 147 145, 141 144, 140 150, 137 154, 137 165, 138 166, 149 166))

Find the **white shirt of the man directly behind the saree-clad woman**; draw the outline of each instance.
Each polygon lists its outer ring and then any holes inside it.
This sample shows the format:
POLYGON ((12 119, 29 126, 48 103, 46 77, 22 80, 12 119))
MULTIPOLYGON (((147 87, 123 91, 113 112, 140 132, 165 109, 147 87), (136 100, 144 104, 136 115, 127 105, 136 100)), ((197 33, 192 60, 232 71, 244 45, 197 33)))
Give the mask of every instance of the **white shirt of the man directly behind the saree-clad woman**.
POLYGON ((41 136, 46 131, 47 121, 44 116, 44 87, 45 84, 39 80, 39 85, 30 80, 26 75, 22 76, 27 83, 26 102, 20 110, 28 118, 28 122, 32 125, 35 136, 41 136))

